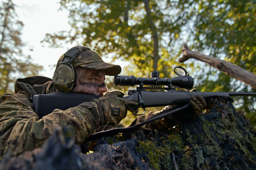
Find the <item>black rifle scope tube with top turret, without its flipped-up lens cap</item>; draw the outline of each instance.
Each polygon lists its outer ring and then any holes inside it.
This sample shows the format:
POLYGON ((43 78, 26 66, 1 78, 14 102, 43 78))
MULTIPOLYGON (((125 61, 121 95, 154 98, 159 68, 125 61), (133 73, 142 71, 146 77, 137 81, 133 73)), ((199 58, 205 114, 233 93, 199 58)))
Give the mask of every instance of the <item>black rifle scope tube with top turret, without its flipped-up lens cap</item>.
POLYGON ((194 85, 194 80, 189 75, 175 78, 160 78, 158 71, 152 71, 151 77, 152 78, 135 78, 135 76, 115 76, 114 85, 138 85, 139 87, 143 87, 143 85, 164 85, 167 88, 175 87, 186 90, 192 89, 194 85))

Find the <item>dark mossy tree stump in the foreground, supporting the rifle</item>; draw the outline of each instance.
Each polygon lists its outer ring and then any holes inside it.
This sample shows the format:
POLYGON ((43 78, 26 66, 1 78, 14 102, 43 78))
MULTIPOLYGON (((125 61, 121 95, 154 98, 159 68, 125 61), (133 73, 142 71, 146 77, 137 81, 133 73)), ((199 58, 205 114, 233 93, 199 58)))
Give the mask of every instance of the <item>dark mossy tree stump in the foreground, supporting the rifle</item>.
POLYGON ((42 149, 14 157, 6 155, 0 162, 0 170, 249 170, 256 167, 255 131, 248 128, 231 103, 224 101, 212 100, 204 114, 194 121, 180 122, 176 129, 101 138, 90 154, 80 153, 80 147, 68 136, 69 130, 56 129, 42 149))

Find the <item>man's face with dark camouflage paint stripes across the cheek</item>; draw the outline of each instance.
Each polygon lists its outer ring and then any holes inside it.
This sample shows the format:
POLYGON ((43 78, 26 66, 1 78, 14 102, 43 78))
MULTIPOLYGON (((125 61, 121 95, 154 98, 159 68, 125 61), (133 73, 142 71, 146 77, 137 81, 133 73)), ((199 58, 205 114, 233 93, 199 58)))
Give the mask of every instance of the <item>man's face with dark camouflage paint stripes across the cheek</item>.
POLYGON ((76 84, 71 92, 103 96, 103 93, 108 91, 104 81, 105 71, 78 67, 76 84))

